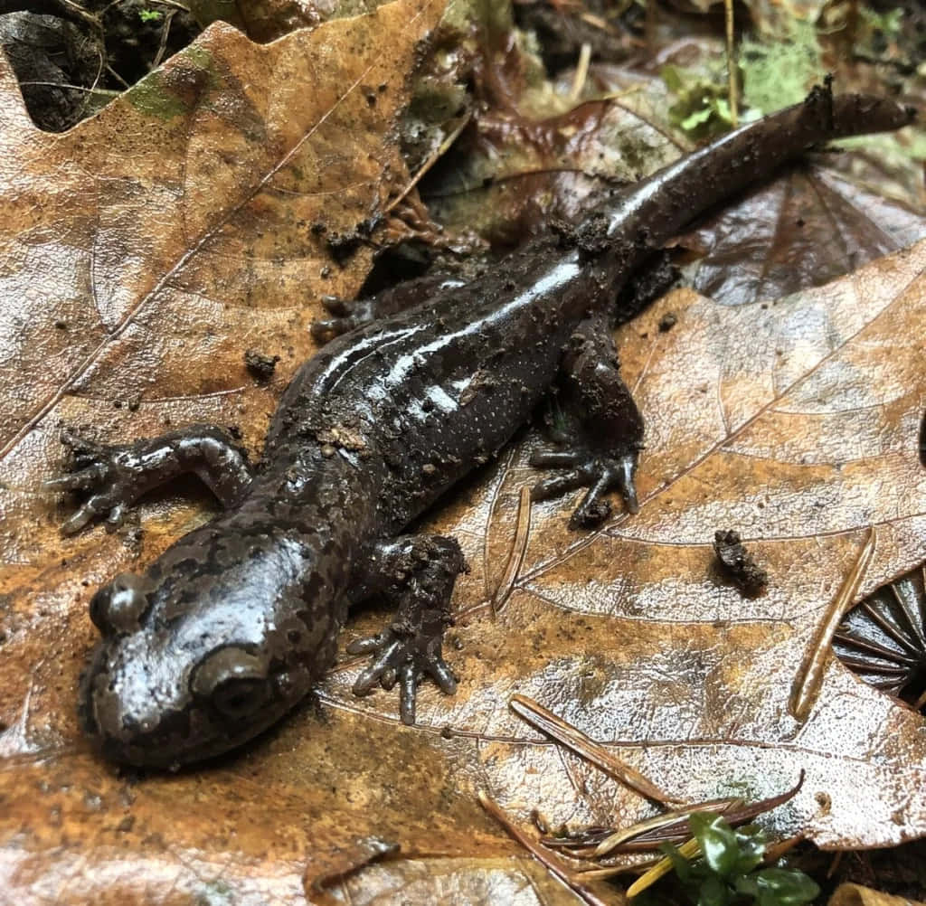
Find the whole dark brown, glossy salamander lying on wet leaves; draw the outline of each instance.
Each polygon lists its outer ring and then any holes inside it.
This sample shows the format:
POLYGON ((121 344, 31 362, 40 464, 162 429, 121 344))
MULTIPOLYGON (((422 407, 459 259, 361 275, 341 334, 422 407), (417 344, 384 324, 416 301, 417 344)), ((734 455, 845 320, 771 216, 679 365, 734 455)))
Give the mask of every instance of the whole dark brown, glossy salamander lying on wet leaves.
MULTIPOLYGON (((404 529, 529 420, 551 386, 569 439, 532 464, 535 500, 585 489, 571 525, 600 523, 618 490, 636 509, 643 419, 619 375, 619 288, 693 217, 812 145, 893 130, 912 112, 816 89, 622 192, 575 230, 526 242, 481 278, 330 304, 338 334, 284 392, 256 467, 220 428, 106 446, 73 431, 52 490, 87 495, 62 527, 117 526, 139 497, 194 473, 224 510, 141 575, 97 590, 102 639, 81 680, 82 725, 106 758, 176 768, 255 737, 335 659, 349 608, 371 595, 397 614, 348 647, 368 653, 354 691, 398 684, 400 715, 430 676, 446 693, 457 540, 404 529)), ((560 438, 560 441, 563 439, 560 438)))

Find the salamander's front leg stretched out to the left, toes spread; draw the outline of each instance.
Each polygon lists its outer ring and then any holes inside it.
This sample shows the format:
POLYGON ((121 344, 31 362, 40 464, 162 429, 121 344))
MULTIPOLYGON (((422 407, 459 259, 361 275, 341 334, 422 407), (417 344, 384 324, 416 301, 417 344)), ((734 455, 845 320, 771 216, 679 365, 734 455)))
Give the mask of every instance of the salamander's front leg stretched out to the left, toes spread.
POLYGON ((106 445, 66 429, 61 442, 73 453, 67 475, 44 482, 45 490, 81 490, 89 496, 61 527, 80 531, 94 517, 106 515, 109 530, 145 492, 193 472, 224 506, 231 506, 251 481, 247 455, 221 428, 193 425, 134 443, 106 445))

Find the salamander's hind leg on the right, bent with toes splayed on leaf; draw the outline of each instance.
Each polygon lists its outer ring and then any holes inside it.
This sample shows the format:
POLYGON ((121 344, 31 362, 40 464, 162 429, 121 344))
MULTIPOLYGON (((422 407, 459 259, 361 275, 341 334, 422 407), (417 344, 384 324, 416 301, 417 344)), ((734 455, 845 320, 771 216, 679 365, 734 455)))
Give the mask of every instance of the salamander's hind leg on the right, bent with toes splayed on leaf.
POLYGON ((557 450, 532 456, 531 465, 563 471, 536 484, 532 500, 548 500, 587 488, 569 526, 594 527, 611 514, 607 500, 618 490, 631 513, 639 509, 633 477, 643 447, 643 417, 620 378, 618 353, 607 322, 582 322, 563 358, 562 404, 576 419, 573 437, 557 438, 557 450))

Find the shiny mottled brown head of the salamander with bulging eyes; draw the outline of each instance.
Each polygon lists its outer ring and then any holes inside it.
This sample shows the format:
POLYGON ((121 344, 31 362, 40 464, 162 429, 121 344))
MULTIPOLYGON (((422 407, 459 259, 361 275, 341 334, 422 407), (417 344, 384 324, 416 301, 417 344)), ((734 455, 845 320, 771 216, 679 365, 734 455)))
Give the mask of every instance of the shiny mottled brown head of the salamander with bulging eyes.
POLYGON ((282 717, 333 659, 343 616, 306 545, 259 536, 219 568, 219 548, 194 538, 203 530, 91 602, 103 639, 79 710, 114 761, 176 768, 229 751, 282 717))

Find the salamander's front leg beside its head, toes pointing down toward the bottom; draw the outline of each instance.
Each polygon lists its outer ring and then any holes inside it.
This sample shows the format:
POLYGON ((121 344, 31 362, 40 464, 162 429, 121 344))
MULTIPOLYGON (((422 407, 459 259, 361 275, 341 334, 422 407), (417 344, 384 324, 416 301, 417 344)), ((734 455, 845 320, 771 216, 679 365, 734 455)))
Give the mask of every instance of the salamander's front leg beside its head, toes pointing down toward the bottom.
POLYGON ((403 724, 415 723, 415 696, 423 676, 431 676, 448 695, 457 689, 443 644, 444 630, 453 623, 454 583, 465 568, 457 540, 440 535, 385 541, 370 558, 364 590, 396 602, 398 613, 382 632, 347 646, 351 654, 371 655, 354 693, 365 695, 377 682, 392 689, 398 680, 403 724))

